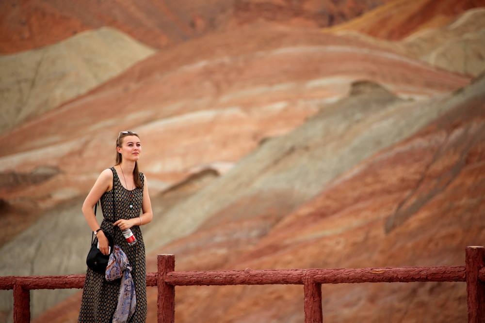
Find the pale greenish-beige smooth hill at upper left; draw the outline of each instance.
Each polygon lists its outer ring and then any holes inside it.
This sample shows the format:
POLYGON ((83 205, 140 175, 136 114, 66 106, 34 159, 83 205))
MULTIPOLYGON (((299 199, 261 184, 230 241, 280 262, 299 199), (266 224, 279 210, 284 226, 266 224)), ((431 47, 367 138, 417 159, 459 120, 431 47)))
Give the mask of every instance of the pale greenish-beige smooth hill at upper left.
POLYGON ((0 134, 27 120, 38 122, 37 117, 154 52, 122 32, 101 28, 55 45, 0 56, 0 134))

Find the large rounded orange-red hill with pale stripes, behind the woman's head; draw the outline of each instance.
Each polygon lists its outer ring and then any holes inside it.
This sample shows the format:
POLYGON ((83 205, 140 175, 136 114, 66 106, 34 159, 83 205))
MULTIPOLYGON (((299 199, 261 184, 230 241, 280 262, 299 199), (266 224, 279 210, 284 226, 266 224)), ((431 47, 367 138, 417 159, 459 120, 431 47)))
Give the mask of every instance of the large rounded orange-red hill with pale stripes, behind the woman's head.
POLYGON ((224 171, 263 138, 291 130, 343 97, 357 79, 408 99, 453 91, 469 80, 318 30, 253 24, 214 32, 154 54, 1 135, 10 142, 0 152, 9 187, 2 191, 6 214, 29 217, 84 195, 97 177, 94 169, 112 160, 120 126, 140 132, 147 152, 142 165, 160 192, 200 169, 224 171), (48 162, 38 158, 44 154, 48 162), (38 177, 39 168, 50 169, 42 181, 21 180, 38 177))

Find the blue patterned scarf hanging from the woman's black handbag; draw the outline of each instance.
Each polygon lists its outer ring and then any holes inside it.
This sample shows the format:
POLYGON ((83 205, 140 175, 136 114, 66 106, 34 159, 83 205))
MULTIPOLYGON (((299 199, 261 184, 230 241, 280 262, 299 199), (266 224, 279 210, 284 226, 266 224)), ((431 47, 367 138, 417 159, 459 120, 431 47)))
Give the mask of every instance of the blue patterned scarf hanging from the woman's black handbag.
POLYGON ((118 305, 113 315, 113 323, 126 323, 135 312, 135 284, 131 277, 128 257, 118 245, 114 245, 106 267, 106 280, 121 278, 118 305))

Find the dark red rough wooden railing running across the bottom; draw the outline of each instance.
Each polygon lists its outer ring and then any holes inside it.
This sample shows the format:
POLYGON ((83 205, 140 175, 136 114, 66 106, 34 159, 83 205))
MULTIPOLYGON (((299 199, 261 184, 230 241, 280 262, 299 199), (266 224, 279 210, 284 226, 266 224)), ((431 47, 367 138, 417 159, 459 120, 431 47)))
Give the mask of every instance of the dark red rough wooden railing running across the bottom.
MULTIPOLYGON (((322 323, 322 284, 364 282, 463 281, 467 283, 468 322, 485 322, 485 248, 468 246, 465 266, 282 270, 175 271, 174 255, 158 255, 158 272, 146 286, 158 286, 159 323, 175 322, 175 286, 304 285, 305 323, 322 323)), ((30 321, 30 290, 82 288, 85 275, 0 277, 0 290, 14 290, 14 323, 30 321)))

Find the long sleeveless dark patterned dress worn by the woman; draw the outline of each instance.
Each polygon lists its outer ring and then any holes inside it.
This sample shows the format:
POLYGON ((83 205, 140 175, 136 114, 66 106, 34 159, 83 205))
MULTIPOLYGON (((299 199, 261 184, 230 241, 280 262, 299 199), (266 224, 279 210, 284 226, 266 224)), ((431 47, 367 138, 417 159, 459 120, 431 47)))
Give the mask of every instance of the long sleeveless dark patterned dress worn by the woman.
MULTIPOLYGON (((113 219, 113 189, 104 192, 101 196, 101 209, 103 212, 103 221, 101 229, 108 232, 114 239, 114 244, 120 246, 127 255, 129 264, 132 267, 131 277, 135 283, 136 308, 129 322, 139 323, 146 321, 146 262, 145 262, 145 244, 143 242, 142 231, 137 225, 130 229, 133 232, 136 243, 129 246, 123 236, 123 233, 113 222, 122 219, 131 219, 138 217, 142 209, 144 175, 140 172, 142 188, 128 190, 121 185, 120 179, 114 167, 113 171, 116 204, 116 215, 113 219), (129 195, 133 194, 132 205, 129 208, 129 195)), ((95 239, 96 240, 96 239, 95 239)), ((120 292, 120 279, 107 281, 104 275, 94 272, 87 268, 86 279, 82 289, 81 310, 78 322, 112 322, 113 314, 118 304, 118 295, 120 292)))

